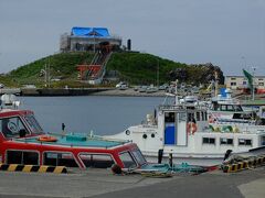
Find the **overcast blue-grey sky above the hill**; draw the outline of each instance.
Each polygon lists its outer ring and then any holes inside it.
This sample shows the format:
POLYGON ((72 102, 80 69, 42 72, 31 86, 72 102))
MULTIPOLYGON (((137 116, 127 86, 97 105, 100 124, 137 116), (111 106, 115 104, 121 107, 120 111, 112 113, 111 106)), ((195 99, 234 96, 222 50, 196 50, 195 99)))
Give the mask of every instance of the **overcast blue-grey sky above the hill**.
POLYGON ((132 50, 225 75, 265 75, 265 0, 0 0, 0 73, 59 52, 72 26, 106 26, 132 50))

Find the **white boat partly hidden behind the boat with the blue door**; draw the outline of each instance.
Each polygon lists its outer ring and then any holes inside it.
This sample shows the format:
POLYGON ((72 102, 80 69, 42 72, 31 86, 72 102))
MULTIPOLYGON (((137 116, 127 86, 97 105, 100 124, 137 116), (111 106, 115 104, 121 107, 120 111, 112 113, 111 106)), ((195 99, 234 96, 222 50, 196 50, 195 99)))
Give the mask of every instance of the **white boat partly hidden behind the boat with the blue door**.
POLYGON ((241 101, 231 97, 218 96, 211 99, 208 114, 212 131, 263 131, 265 128, 265 109, 245 109, 241 101))

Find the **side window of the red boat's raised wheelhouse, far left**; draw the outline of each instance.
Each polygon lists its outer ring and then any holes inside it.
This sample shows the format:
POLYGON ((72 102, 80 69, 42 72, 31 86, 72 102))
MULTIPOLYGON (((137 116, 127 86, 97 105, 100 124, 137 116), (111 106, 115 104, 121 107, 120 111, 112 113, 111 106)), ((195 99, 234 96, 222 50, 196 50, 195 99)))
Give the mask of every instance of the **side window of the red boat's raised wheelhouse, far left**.
POLYGON ((19 117, 0 119, 0 127, 6 138, 19 138, 21 132, 23 132, 23 135, 29 134, 19 117))

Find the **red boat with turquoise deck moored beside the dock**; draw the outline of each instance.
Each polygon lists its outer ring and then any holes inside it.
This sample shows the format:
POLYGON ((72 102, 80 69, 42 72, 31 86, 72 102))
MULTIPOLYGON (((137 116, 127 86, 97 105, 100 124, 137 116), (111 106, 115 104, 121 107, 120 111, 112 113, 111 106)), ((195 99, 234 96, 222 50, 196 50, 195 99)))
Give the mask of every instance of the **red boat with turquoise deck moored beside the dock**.
POLYGON ((44 133, 32 111, 11 108, 15 102, 7 96, 2 96, 2 100, 9 107, 0 109, 0 164, 86 169, 107 168, 113 164, 131 168, 147 163, 138 146, 128 141, 108 140, 93 134, 44 133))

